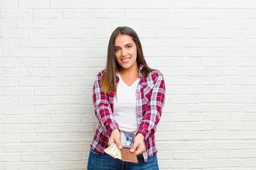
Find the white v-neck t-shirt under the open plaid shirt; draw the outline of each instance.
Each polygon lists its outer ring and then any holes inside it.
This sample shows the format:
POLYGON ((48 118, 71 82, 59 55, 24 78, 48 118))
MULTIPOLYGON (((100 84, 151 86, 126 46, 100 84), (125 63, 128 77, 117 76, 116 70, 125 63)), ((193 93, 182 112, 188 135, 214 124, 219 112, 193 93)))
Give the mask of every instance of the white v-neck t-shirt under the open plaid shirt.
POLYGON ((128 86, 119 75, 117 99, 114 99, 113 113, 120 130, 137 132, 136 91, 138 84, 139 78, 131 86, 128 86))

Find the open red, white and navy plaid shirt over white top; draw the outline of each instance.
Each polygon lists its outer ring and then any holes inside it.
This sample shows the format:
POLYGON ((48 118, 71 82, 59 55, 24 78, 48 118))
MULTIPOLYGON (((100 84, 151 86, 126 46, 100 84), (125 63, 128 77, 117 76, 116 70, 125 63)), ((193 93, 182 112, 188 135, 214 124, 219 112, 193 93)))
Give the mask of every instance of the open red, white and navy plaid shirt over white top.
MULTIPOLYGON (((164 106, 165 84, 164 77, 158 70, 150 72, 148 77, 145 78, 141 74, 143 67, 144 65, 141 65, 139 68, 140 81, 136 92, 137 133, 141 133, 144 136, 145 152, 143 157, 147 161, 149 157, 157 153, 154 134, 164 106)), ((99 126, 90 145, 94 152, 101 155, 104 154, 104 149, 107 147, 112 130, 119 129, 113 114, 115 92, 111 91, 109 95, 105 96, 99 85, 104 71, 99 72, 94 81, 92 97, 99 126)), ((116 75, 116 82, 118 84, 119 78, 118 74, 116 75)))

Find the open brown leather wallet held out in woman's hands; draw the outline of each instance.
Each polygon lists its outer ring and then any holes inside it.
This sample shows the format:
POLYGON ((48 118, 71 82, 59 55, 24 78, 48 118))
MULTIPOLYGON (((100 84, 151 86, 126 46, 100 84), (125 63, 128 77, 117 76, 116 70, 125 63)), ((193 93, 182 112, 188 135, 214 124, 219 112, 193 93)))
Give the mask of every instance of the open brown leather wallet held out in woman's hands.
POLYGON ((134 133, 120 130, 120 141, 123 147, 120 150, 122 161, 138 163, 135 152, 130 152, 130 148, 132 148, 134 138, 134 133))

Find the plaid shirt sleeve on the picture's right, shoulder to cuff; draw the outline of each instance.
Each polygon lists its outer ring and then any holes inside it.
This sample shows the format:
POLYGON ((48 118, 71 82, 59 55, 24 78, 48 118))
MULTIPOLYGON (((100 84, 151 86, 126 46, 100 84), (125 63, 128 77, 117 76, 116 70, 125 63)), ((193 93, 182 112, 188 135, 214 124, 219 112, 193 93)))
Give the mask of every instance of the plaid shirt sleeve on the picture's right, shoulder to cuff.
POLYGON ((162 73, 155 71, 152 77, 154 82, 152 93, 146 103, 146 111, 137 131, 137 133, 143 134, 144 140, 155 134, 165 102, 165 83, 162 73))

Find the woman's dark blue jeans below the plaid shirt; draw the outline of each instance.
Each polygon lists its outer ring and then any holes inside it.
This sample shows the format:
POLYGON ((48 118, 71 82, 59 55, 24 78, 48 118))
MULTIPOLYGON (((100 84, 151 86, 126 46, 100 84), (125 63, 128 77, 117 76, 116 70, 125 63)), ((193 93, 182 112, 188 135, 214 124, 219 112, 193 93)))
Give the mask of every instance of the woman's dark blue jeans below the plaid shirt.
POLYGON ((87 169, 88 170, 159 170, 157 164, 157 155, 148 158, 144 162, 141 155, 137 156, 138 163, 125 162, 115 159, 108 154, 99 155, 94 151, 90 151, 87 169))

